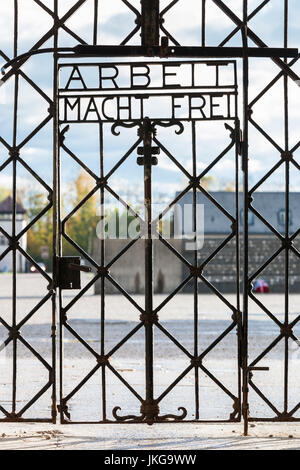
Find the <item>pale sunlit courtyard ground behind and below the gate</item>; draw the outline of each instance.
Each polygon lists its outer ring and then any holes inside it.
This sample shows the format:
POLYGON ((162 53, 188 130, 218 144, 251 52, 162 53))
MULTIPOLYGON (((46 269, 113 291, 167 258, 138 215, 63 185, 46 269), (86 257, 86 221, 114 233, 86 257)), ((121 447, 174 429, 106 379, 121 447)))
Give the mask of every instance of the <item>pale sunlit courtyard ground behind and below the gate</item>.
MULTIPOLYGON (((20 321, 47 293, 47 285, 39 275, 21 274, 18 276, 17 319, 20 321)), ((0 311, 2 318, 10 323, 11 277, 1 275, 0 311)), ((88 282, 85 277, 83 284, 88 282)), ((64 294, 64 306, 77 292, 64 294)), ((166 296, 155 296, 159 305, 166 296)), ((234 295, 226 299, 235 305, 234 295)), ((142 305, 143 297, 134 296, 142 305)), ((283 296, 279 294, 261 295, 259 300, 276 315, 283 318, 283 296)), ((300 313, 300 296, 290 296, 290 317, 300 313)), ((199 352, 205 351, 216 338, 231 324, 231 311, 213 295, 199 295, 199 352)), ((87 343, 100 351, 100 297, 87 291, 84 298, 68 311, 68 323, 87 343)), ((194 317, 193 296, 179 294, 159 313, 160 321, 187 351, 193 352, 194 317)), ((139 312, 124 297, 110 295, 106 299, 105 351, 110 351, 137 324, 139 312)), ((21 328, 24 338, 41 356, 51 359, 51 304, 46 302, 21 328)), ((1 338, 5 329, 0 327, 1 338)), ((294 330, 297 335, 297 327, 294 330)), ((250 358, 257 357, 279 334, 278 326, 268 319, 256 305, 250 305, 249 345, 250 358)), ((96 361, 91 353, 82 346, 70 332, 64 334, 64 394, 67 395, 95 367, 96 361)), ((289 409, 300 401, 300 356, 298 346, 291 342, 289 409)), ((11 345, 0 353, 0 402, 10 407, 11 400, 11 345)), ((283 408, 283 342, 259 362, 259 366, 269 367, 269 371, 255 372, 255 383, 263 393, 278 407, 283 408)), ((144 395, 144 335, 143 328, 120 347, 111 358, 111 364, 141 396, 144 395)), ((190 364, 189 358, 170 339, 155 329, 155 396, 159 396, 190 364)), ((238 393, 237 338, 233 330, 203 361, 206 369, 217 378, 234 396, 238 393)), ((31 352, 22 345, 18 346, 18 392, 19 409, 47 382, 47 371, 31 352)), ((101 419, 102 414, 101 370, 79 390, 69 402, 69 411, 74 421, 101 419)), ((203 420, 227 420, 232 413, 232 399, 222 388, 214 383, 209 374, 199 374, 200 381, 200 418, 203 420)), ((161 402, 161 413, 177 413, 180 406, 188 411, 188 419, 195 418, 195 373, 191 370, 161 402)), ((50 394, 48 391, 25 414, 49 417, 50 394)), ((139 414, 139 402, 133 394, 111 372, 106 374, 107 416, 112 409, 120 406, 120 414, 139 414)), ((254 392, 250 393, 252 416, 273 417, 274 412, 254 392)), ((25 415, 24 415, 25 416, 25 415)), ((298 413, 296 414, 298 417, 298 413)), ((148 427, 145 425, 41 425, 41 424, 0 424, 0 449, 20 448, 106 448, 106 449, 193 449, 193 448, 300 448, 300 425, 255 424, 250 427, 250 437, 241 437, 241 424, 163 424, 148 427), (1 437, 2 435, 2 437, 1 437), (100 437, 101 436, 101 437, 100 437), (272 437, 270 437, 272 436, 272 437), (263 437, 263 439, 262 439, 263 437), (299 439, 299 440, 298 440, 299 439)))

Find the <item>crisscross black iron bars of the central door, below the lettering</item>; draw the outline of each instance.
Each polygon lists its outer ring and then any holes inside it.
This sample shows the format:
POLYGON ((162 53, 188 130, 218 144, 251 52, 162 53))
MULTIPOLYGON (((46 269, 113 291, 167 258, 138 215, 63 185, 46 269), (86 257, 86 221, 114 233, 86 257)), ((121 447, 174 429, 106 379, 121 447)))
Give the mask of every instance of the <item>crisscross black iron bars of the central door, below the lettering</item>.
MULTIPOLYGON (((143 63, 139 63, 140 65, 144 65, 143 63)), ((73 67, 75 64, 64 64, 64 66, 67 67, 73 67)), ((91 64, 87 64, 91 65, 91 64)), ((234 72, 235 76, 235 83, 236 83, 236 70, 234 72)), ((63 88, 62 88, 63 89, 63 88)), ((236 85, 234 86, 235 93, 237 91, 236 85)), ((75 90, 76 92, 76 90, 75 90)), ((73 98, 76 97, 74 93, 72 94, 73 98)), ((86 95, 85 96, 89 96, 86 95)), ((160 96, 163 96, 160 94, 160 96)), ((166 95, 165 95, 166 96, 166 95)), ((60 95, 61 99, 65 99, 64 94, 62 93, 60 95)), ((200 175, 197 174, 196 172, 196 162, 197 162, 197 156, 196 156, 196 127, 195 127, 195 122, 191 122, 191 128, 192 128, 192 154, 193 154, 193 173, 190 174, 188 171, 186 171, 182 165, 178 162, 178 160, 169 153, 169 151, 160 143, 159 138, 156 137, 156 126, 163 126, 163 127, 169 127, 176 125, 179 130, 177 131, 177 134, 180 134, 183 132, 184 126, 183 126, 183 120, 171 120, 171 121, 151 121, 148 118, 146 118, 143 122, 136 122, 129 120, 129 122, 122 122, 122 121, 116 121, 112 125, 112 133, 117 135, 116 133, 116 128, 118 126, 124 126, 124 127, 138 127, 138 137, 139 140, 129 149, 128 152, 119 160, 119 162, 113 167, 113 169, 107 174, 104 175, 103 173, 103 124, 101 124, 101 131, 100 131, 100 162, 101 162, 101 176, 100 180, 98 179, 97 175, 95 175, 91 170, 89 170, 85 164, 82 162, 82 160, 74 155, 67 147, 65 143, 65 134, 67 127, 63 127, 61 132, 60 132, 60 145, 64 149, 65 152, 67 152, 72 158, 76 160, 77 163, 79 163, 83 168, 85 168, 89 174, 95 179, 95 183, 97 186, 95 186, 94 189, 87 195, 87 198, 91 197, 95 190, 97 190, 99 187, 101 188, 101 200, 103 201, 104 199, 104 189, 109 191, 111 194, 114 195, 118 200, 122 202, 124 207, 126 209, 129 209, 132 214, 135 217, 138 217, 137 214, 129 207, 129 205, 125 202, 122 201, 122 199, 119 197, 118 194, 115 193, 113 188, 109 186, 109 178, 115 173, 115 171, 118 169, 118 167, 122 164, 122 162, 128 158, 128 156, 132 153, 134 149, 137 148, 138 154, 143 155, 143 157, 138 157, 138 164, 144 166, 144 199, 145 199, 145 207, 146 207, 146 220, 145 222, 142 221, 139 218, 139 221, 141 224, 144 224, 146 227, 146 233, 148 236, 146 236, 145 239, 145 278, 146 278, 146 293, 145 293, 145 309, 140 310, 141 316, 140 320, 141 323, 126 337, 124 337, 120 343, 118 343, 110 352, 106 352, 104 349, 104 337, 101 336, 101 355, 98 357, 96 351, 92 350, 90 346, 87 344, 87 342, 82 338, 80 335, 78 335, 68 324, 66 320, 66 313, 69 310, 69 307, 71 305, 74 305, 74 301, 79 300, 84 292, 86 291, 86 288, 84 288, 80 294, 76 296, 76 299, 72 301, 69 306, 66 305, 64 307, 61 307, 61 312, 62 312, 62 317, 61 317, 61 325, 65 327, 69 332, 73 334, 73 336, 81 342, 83 346, 85 346, 96 358, 98 363, 102 367, 102 377, 104 378, 104 381, 102 382, 102 388, 103 388, 103 399, 102 399, 102 405, 103 405, 103 419, 101 422, 114 422, 109 419, 107 419, 106 415, 106 399, 105 399, 105 390, 106 390, 106 385, 105 385, 105 369, 109 368, 123 384, 127 386, 127 388, 141 401, 141 414, 140 415, 128 415, 128 416, 122 416, 118 414, 119 407, 115 407, 113 410, 113 416, 116 422, 147 422, 151 424, 152 422, 166 422, 170 420, 175 420, 175 422, 180 422, 182 419, 186 417, 186 410, 183 407, 180 407, 179 409, 182 410, 181 415, 174 415, 174 414, 168 414, 164 416, 159 415, 159 403, 160 401, 169 394, 169 392, 176 386, 176 384, 192 369, 195 370, 195 406, 196 406, 196 420, 200 420, 199 416, 199 379, 198 379, 198 373, 199 370, 201 369, 202 372, 207 374, 211 380, 223 390, 224 393, 226 393, 232 400, 233 400, 233 412, 230 413, 230 416, 228 420, 226 421, 238 421, 240 419, 240 408, 241 408, 241 402, 240 402, 240 391, 239 391, 239 386, 238 388, 238 395, 235 396, 233 395, 210 371, 207 370, 207 368, 204 366, 202 363, 203 359, 206 357, 208 352, 213 350, 215 346, 219 344, 219 342, 227 335, 229 334, 233 329, 236 327, 238 328, 238 331, 240 332, 240 324, 241 324, 241 316, 239 312, 239 264, 237 260, 237 277, 236 277, 236 291, 237 291, 237 307, 231 305, 225 297, 211 284, 203 275, 202 271, 205 269, 205 267, 209 264, 209 262, 216 256, 224 246, 229 243, 233 238, 236 238, 238 240, 238 219, 239 219, 239 207, 238 207, 238 193, 236 193, 235 201, 236 201, 236 208, 235 208, 235 217, 230 215, 212 196, 205 191, 205 189, 200 185, 201 178, 211 169, 214 167, 214 165, 226 154, 228 153, 229 150, 235 148, 235 163, 236 163, 236 188, 238 188, 238 159, 239 159, 239 150, 240 150, 240 128, 239 128, 239 121, 237 120, 237 96, 235 96, 235 105, 234 105, 234 117, 232 116, 230 119, 233 122, 234 127, 230 127, 228 124, 226 124, 226 128, 230 131, 230 144, 224 149, 224 151, 221 152, 221 154, 216 157, 212 163, 205 169, 203 170, 200 175), (144 146, 143 147, 137 147, 141 142, 143 142, 144 146), (151 217, 151 212, 152 212, 152 202, 151 202, 151 187, 152 187, 152 177, 151 177, 151 166, 152 164, 155 164, 156 162, 153 162, 153 159, 155 157, 152 157, 152 153, 155 148, 152 148, 152 142, 154 142, 157 145, 157 148, 161 148, 168 156, 169 158, 173 161, 173 163, 176 164, 178 169, 180 169, 189 179, 189 185, 180 193, 179 196, 176 197, 174 201, 172 201, 168 207, 155 219, 152 220, 151 217), (197 249, 195 248, 194 252, 194 264, 190 264, 179 252, 177 252, 169 243, 167 243, 166 240, 164 240, 161 236, 159 236, 159 239, 161 242, 165 244, 165 246, 170 249, 177 257, 178 259, 184 263, 188 270, 189 270, 189 275, 188 277, 178 286, 178 288, 172 292, 164 301, 161 305, 159 305, 156 309, 153 310, 153 284, 152 284, 152 276, 153 276, 153 267, 152 267, 152 239, 150 237, 153 226, 154 224, 161 220, 164 214, 166 214, 172 206, 184 195, 186 194, 189 190, 193 191, 193 198, 194 198, 194 226, 197 224, 196 220, 196 211, 195 211, 195 198, 197 191, 200 190, 208 200, 210 200, 216 207, 223 212, 223 214, 231 221, 232 223, 232 233, 225 238, 225 240, 221 243, 221 245, 214 250, 213 253, 209 255, 207 259, 205 259, 201 264, 198 264, 197 260, 197 249), (149 219, 149 220, 148 220, 149 219), (232 322, 229 324, 228 328, 201 354, 198 350, 198 280, 201 279, 202 282, 204 282, 209 289, 219 297, 219 299, 224 302, 224 304, 229 307, 229 309, 232 311, 232 322), (158 321, 158 315, 157 313, 162 309, 162 307, 169 301, 171 300, 189 281, 193 280, 194 283, 194 355, 191 355, 184 347, 183 345, 176 340, 158 321), (129 385, 127 381, 122 378, 113 365, 109 362, 110 357, 113 358, 113 354, 132 337, 133 334, 135 334, 142 326, 145 327, 145 350, 146 350, 146 398, 143 400, 142 397, 137 395, 136 390, 132 389, 132 387, 129 385), (180 375, 178 378, 173 382, 158 398, 154 399, 153 395, 153 327, 157 327, 162 331, 176 346, 178 346, 190 359, 191 365, 180 375)), ((63 108, 63 106, 62 106, 63 108)), ((226 120, 226 119, 225 119, 226 120)), ((188 120, 189 121, 189 120, 188 120)), ((60 124, 61 126, 67 124, 68 121, 61 121, 60 124)), ((111 124, 110 124, 111 125, 111 124)), ((87 200, 85 198, 85 200, 87 200)), ((65 231, 65 224, 69 220, 69 218, 72 216, 72 214, 75 213, 75 211, 81 206, 81 204, 84 202, 81 201, 78 205, 77 208, 74 208, 69 215, 65 217, 65 219, 62 221, 60 224, 61 226, 61 231, 60 231, 60 237, 66 238, 69 243, 72 244, 74 248, 77 248, 79 253, 88 261, 90 262, 93 266, 96 267, 98 274, 96 277, 88 284, 88 287, 92 285, 92 283, 95 282, 98 278, 101 278, 101 331, 102 335, 104 334, 104 327, 105 327, 105 311, 104 311, 104 279, 107 282, 109 280, 110 282, 113 283, 115 287, 121 292, 122 295, 124 295, 135 307, 139 310, 139 307, 133 300, 132 296, 130 296, 124 289, 116 282, 115 279, 109 274, 109 269, 111 266, 113 266, 114 262, 118 260, 128 249, 131 247, 137 239, 134 239, 132 242, 128 243, 128 245, 121 251, 119 252, 115 258, 110 261, 106 266, 104 264, 104 248, 105 244, 104 241, 101 241, 101 264, 99 265, 98 263, 95 262, 94 259, 92 259, 87 253, 85 253, 75 242, 72 240, 66 233, 65 231)), ((239 252, 239 243, 236 243, 236 251, 237 255, 239 252)), ((239 335, 240 336, 240 335, 239 335)), ((63 351, 61 350, 61 360, 63 357, 63 351)), ((81 387, 86 383, 86 380, 88 380, 95 372, 97 372, 99 367, 93 368, 91 372, 86 376, 86 378, 79 383, 74 390, 72 390, 67 396, 63 396, 62 398, 62 405, 60 406, 60 411, 62 413, 62 420, 63 422, 68 422, 70 420, 70 412, 68 410, 68 402, 69 400, 74 396, 75 393, 81 387)), ((63 362, 61 363, 61 370, 63 369, 63 362)), ((239 381, 239 378, 238 378, 239 381)), ((73 422, 73 421, 72 421, 73 422)))

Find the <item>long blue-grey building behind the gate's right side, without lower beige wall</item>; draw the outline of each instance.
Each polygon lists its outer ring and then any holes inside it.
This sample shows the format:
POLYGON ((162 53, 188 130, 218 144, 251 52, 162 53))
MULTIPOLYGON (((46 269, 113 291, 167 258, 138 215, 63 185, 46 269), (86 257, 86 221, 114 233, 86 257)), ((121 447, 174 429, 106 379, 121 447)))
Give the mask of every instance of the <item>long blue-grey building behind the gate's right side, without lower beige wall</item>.
MULTIPOLYGON (((243 231, 243 194, 238 194, 238 210, 236 209, 236 194, 234 192, 216 191, 210 192, 211 196, 233 217, 236 212, 239 214, 239 231, 243 231)), ((185 194, 179 201, 177 212, 175 211, 175 232, 181 227, 185 237, 189 237, 192 232, 192 219, 187 217, 183 220, 183 208, 192 204, 192 193, 185 194)), ((300 193, 291 192, 289 226, 290 235, 295 233, 300 227, 300 193)), ((204 224, 198 227, 198 237, 202 238, 204 233, 204 243, 198 251, 199 264, 215 251, 223 240, 231 233, 231 220, 222 211, 208 200, 202 193, 197 194, 197 204, 202 205, 204 212, 204 224)), ((285 194, 283 192, 255 192, 252 206, 274 227, 279 234, 285 233, 285 194)), ((201 211, 200 211, 201 212, 201 211)), ((248 213, 249 223, 249 273, 256 273, 257 270, 282 246, 281 240, 252 211, 248 213)), ((183 252, 186 259, 193 262, 193 253, 187 249, 188 241, 183 241, 183 252)), ((294 240, 294 246, 300 250, 300 237, 294 240)), ((243 237, 240 237, 240 260, 243 255, 243 237)), ((205 277, 221 292, 236 291, 236 239, 232 239, 213 258, 204 269, 205 277)), ((272 292, 284 292, 285 253, 282 251, 272 263, 270 263, 258 278, 263 278, 270 285, 272 292)), ((300 292, 300 259, 296 254, 289 254, 290 292, 300 292)), ((187 274, 187 269, 183 266, 183 276, 187 274)), ((242 276, 242 273, 241 273, 242 276)), ((189 286, 187 286, 188 288, 189 286)), ((208 291, 208 287, 202 282, 199 283, 199 290, 208 291)))

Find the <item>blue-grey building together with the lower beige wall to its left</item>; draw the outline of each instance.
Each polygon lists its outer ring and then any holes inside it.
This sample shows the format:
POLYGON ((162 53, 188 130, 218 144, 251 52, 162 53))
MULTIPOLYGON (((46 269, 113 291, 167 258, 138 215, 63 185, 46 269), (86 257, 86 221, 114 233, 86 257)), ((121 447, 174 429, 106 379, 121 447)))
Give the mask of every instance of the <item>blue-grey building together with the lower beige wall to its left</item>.
MULTIPOLYGON (((178 194, 176 194, 177 196, 178 194)), ((240 233, 243 231, 243 194, 238 194, 238 209, 236 209, 236 194, 234 192, 216 191, 210 195, 222 206, 228 214, 240 219, 240 233)), ((186 260, 194 264, 194 251, 191 250, 193 218, 191 192, 186 193, 174 211, 174 231, 182 233, 182 239, 168 240, 186 260), (184 214, 186 214, 184 216, 184 214)), ((198 264, 203 263, 231 234, 231 220, 216 204, 212 203, 202 193, 198 192, 199 220, 197 237, 199 241, 198 264)), ((253 207, 267 223, 271 224, 278 234, 285 232, 285 195, 280 192, 256 192, 253 207)), ((290 234, 300 227, 300 193, 290 193, 290 234)), ((248 214, 249 221, 249 272, 257 270, 282 246, 281 240, 256 215, 248 214)), ((300 235, 295 238, 294 246, 300 251, 300 235)), ((106 262, 109 262, 128 244, 128 240, 106 240, 106 262)), ((240 262, 242 265, 243 237, 240 236, 240 262)), ((100 240, 95 239, 94 256, 100 260, 100 240)), ((236 292, 236 238, 227 243, 222 250, 209 262, 203 270, 203 275, 221 292, 236 292)), ((284 250, 270 263, 257 278, 263 278, 270 285, 271 292, 284 292, 284 250)), ((296 254, 289 254, 290 292, 300 292, 300 259, 296 254)), ((122 255, 111 268, 112 276, 131 293, 144 292, 144 252, 143 242, 135 243, 122 255), (136 260, 139 259, 139 265, 136 260)), ((163 243, 154 241, 154 289, 155 292, 172 292, 189 274, 187 266, 182 263, 163 243)), ((242 273, 241 273, 242 279, 242 273)), ((108 292, 117 290, 106 284, 108 292)), ((96 286, 99 293, 100 283, 96 286)), ((193 289, 193 282, 184 287, 185 292, 193 289)), ((210 292, 210 289, 199 281, 199 292, 210 292)))

